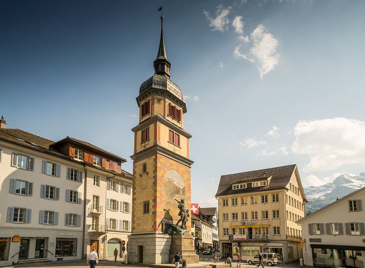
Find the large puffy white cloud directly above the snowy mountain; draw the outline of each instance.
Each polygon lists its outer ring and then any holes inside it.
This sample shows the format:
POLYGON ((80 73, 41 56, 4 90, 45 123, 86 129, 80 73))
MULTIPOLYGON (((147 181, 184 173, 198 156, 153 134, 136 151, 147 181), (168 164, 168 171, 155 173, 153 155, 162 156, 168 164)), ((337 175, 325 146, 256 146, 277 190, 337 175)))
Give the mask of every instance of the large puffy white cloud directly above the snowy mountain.
POLYGON ((365 163, 365 122, 348 118, 299 121, 292 151, 309 156, 304 171, 365 163))

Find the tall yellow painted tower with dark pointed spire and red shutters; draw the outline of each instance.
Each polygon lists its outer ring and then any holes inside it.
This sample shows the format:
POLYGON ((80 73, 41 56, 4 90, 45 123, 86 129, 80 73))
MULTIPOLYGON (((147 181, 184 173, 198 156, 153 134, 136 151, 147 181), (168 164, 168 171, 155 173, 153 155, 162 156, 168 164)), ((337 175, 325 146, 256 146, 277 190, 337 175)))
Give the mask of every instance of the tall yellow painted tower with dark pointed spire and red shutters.
MULTIPOLYGON (((135 134, 134 155, 131 156, 132 234, 128 238, 131 263, 170 263, 174 240, 171 235, 163 234, 163 226, 180 219, 175 199, 184 199, 186 208, 191 204, 190 167, 193 161, 189 157, 189 139, 192 136, 183 128, 186 104, 182 92, 170 80, 171 63, 166 53, 162 16, 160 45, 153 65, 154 75, 139 88, 136 98, 139 123, 132 129, 135 134)), ((190 228, 191 218, 187 222, 188 233, 185 233, 191 238, 190 228)))

